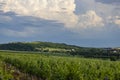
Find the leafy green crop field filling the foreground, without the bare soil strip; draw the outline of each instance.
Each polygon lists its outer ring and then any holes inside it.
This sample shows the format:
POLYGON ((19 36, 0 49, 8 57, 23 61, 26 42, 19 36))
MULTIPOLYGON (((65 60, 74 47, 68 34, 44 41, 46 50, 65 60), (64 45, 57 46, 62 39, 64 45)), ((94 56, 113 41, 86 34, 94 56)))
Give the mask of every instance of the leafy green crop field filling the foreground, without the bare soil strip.
POLYGON ((120 80, 119 61, 0 51, 0 62, 29 75, 26 80, 120 80))

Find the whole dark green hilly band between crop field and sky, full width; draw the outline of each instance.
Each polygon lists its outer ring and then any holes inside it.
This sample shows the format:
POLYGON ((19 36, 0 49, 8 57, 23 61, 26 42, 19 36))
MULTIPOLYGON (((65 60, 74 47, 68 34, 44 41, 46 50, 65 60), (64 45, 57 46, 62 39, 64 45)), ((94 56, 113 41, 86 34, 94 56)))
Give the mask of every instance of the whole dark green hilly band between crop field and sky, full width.
POLYGON ((34 51, 50 54, 73 55, 88 58, 110 58, 111 60, 120 59, 120 50, 114 48, 88 48, 65 43, 53 42, 13 42, 0 44, 0 50, 12 51, 34 51))

